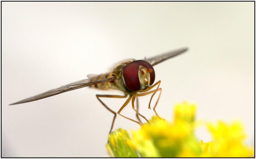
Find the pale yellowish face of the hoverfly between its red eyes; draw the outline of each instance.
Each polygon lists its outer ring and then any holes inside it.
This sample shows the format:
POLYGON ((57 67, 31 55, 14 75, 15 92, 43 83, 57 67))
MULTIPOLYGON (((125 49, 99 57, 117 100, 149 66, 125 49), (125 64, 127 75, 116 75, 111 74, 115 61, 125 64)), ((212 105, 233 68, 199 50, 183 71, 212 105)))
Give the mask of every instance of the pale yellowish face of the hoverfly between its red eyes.
POLYGON ((150 87, 150 72, 148 71, 148 69, 146 69, 142 65, 139 65, 138 75, 140 81, 140 89, 150 87))

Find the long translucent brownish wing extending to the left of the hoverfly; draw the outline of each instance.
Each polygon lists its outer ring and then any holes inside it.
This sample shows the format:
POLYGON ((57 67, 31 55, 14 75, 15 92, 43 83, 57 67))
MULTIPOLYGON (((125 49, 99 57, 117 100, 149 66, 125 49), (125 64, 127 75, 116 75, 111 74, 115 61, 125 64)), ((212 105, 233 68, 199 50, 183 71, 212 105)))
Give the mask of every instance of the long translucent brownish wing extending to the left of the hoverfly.
POLYGON ((54 96, 54 95, 57 95, 57 94, 60 94, 60 93, 64 93, 64 92, 67 92, 67 91, 70 91, 70 90, 83 88, 83 87, 95 85, 95 84, 102 83, 102 82, 109 82, 111 80, 112 80, 112 78, 103 79, 103 80, 95 80, 95 81, 90 81, 89 79, 85 79, 85 80, 81 80, 81 81, 77 81, 77 82, 67 84, 65 86, 61 86, 59 88, 51 89, 47 92, 38 94, 38 95, 33 96, 33 97, 23 99, 21 101, 12 103, 10 105, 31 102, 31 101, 35 101, 35 100, 38 100, 38 99, 47 98, 47 97, 54 96))

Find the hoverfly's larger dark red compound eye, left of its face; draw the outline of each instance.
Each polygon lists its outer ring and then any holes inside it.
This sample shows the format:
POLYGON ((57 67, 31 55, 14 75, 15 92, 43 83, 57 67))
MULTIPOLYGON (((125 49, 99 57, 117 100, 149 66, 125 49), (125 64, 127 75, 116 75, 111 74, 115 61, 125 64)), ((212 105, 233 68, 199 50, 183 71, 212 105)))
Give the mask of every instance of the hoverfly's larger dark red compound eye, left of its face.
POLYGON ((131 91, 140 90, 138 69, 139 64, 135 61, 128 63, 123 69, 125 85, 131 91))

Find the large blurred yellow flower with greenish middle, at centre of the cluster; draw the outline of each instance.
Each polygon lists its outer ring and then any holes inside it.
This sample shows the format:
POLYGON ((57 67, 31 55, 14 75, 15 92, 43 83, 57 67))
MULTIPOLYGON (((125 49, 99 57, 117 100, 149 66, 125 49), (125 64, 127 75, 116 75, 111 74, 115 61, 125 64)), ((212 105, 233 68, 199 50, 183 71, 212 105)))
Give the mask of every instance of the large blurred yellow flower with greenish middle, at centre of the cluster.
POLYGON ((153 117, 150 123, 143 124, 140 130, 132 131, 128 143, 141 157, 193 157, 201 153, 200 145, 186 121, 169 123, 153 117))

